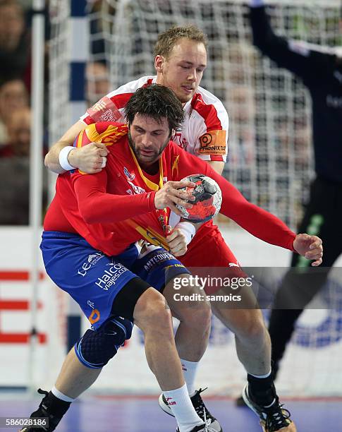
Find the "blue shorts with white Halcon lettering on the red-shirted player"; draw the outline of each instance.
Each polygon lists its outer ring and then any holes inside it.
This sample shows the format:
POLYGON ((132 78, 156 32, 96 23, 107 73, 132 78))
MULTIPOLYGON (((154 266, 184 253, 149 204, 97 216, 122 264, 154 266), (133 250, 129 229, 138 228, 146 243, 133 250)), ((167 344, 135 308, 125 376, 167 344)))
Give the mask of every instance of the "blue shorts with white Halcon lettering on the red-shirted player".
POLYGON ((117 256, 97 251, 78 234, 44 231, 40 245, 51 280, 80 305, 97 329, 111 315, 118 292, 133 278, 162 291, 166 282, 188 270, 158 246, 131 245, 117 256))

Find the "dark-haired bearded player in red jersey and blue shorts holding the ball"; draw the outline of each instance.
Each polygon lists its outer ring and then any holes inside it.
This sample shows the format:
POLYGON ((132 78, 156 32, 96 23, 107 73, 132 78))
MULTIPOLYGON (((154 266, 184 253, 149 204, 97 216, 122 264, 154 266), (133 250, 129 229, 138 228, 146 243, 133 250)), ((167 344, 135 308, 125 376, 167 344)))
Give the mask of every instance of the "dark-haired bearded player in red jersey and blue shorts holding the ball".
MULTIPOLYGON (((319 265, 320 263, 322 244, 317 237, 306 234, 295 236, 276 217, 248 203, 236 188, 216 174, 206 162, 189 155, 169 141, 172 132, 170 117, 172 118, 173 114, 173 110, 169 107, 173 106, 175 109, 177 106, 181 107, 172 92, 163 86, 151 85, 138 90, 126 107, 128 126, 112 122, 90 125, 80 133, 75 141, 75 145, 87 145, 93 138, 96 138, 97 141, 105 143, 109 149, 106 168, 94 175, 75 170, 71 174, 62 174, 57 180, 56 197, 44 221, 42 241, 44 263, 51 278, 78 301, 92 323, 92 330, 87 330, 90 334, 87 335, 86 332, 83 338, 75 344, 75 349, 68 354, 71 359, 67 359, 63 365, 53 391, 47 393, 37 412, 32 414, 45 416, 47 412, 42 413, 42 410, 50 409, 48 414, 54 417, 54 422, 51 423, 55 426, 72 400, 91 385, 102 366, 116 354, 120 343, 117 343, 113 350, 108 347, 106 339, 113 330, 112 327, 114 326, 116 330, 122 329, 124 340, 126 336, 129 337, 131 330, 127 321, 134 318, 135 322, 138 322, 138 325, 140 324, 145 330, 145 336, 149 332, 148 325, 145 327, 144 324, 141 324, 144 323, 144 311, 138 308, 140 320, 135 318, 137 307, 140 306, 144 296, 151 292, 150 290, 152 290, 152 296, 157 296, 153 300, 157 306, 160 300, 157 290, 150 288, 150 281, 144 284, 144 277, 147 280, 151 276, 154 282, 158 283, 160 279, 163 279, 164 282, 165 276, 161 276, 160 268, 153 269, 153 266, 149 266, 148 260, 150 263, 155 263, 158 261, 156 258, 161 256, 159 263, 170 261, 171 264, 168 263, 167 270, 173 268, 176 269, 176 272, 171 271, 169 280, 179 274, 177 272, 180 272, 182 277, 186 277, 186 270, 181 263, 176 263, 171 254, 168 255, 168 252, 159 247, 160 244, 165 244, 176 255, 182 255, 186 251, 187 243, 192 240, 191 236, 187 235, 187 230, 190 229, 189 222, 178 223, 172 234, 168 235, 170 211, 178 213, 176 204, 185 205, 188 208, 191 205, 185 201, 189 198, 188 194, 178 190, 186 186, 181 182, 178 183, 184 176, 193 174, 195 170, 195 172, 202 172, 212 177, 221 187, 223 197, 221 212, 236 220, 238 224, 259 238, 298 251, 303 255, 311 253, 310 258, 315 260, 314 264, 319 265), (168 115, 163 115, 161 107, 165 106, 168 115), (182 225, 184 223, 186 224, 185 229, 182 225), (156 234, 154 238, 151 238, 151 232, 156 234), (147 255, 139 257, 136 246, 132 244, 138 239, 148 239, 156 246, 147 246, 151 248, 150 251, 147 251, 147 255), (314 248, 310 249, 310 245, 314 248), (85 248, 88 260, 85 260, 85 255, 79 256, 80 248, 85 248), (79 262, 75 259, 78 259, 79 262), (104 263, 109 270, 101 268, 104 263), (146 268, 152 268, 152 275, 143 274, 142 269, 146 268), (136 272, 133 271, 135 269, 136 272), (137 275, 142 275, 142 279, 137 275), (77 281, 77 277, 82 278, 81 282, 77 281), (108 303, 110 304, 109 309, 108 303), (101 310, 95 307, 97 304, 101 310), (107 328, 107 325, 110 328, 107 328), (96 343, 98 344, 101 340, 104 345, 101 353, 98 352, 98 349, 96 354, 92 352, 94 335, 98 339, 96 343), (79 363, 76 370, 75 361, 79 363), (80 378, 86 371, 87 380, 81 383, 78 380, 71 388, 71 381, 75 379, 75 375, 80 378), (90 371, 95 371, 95 373, 90 373, 90 371), (73 376, 72 380, 71 376, 73 376)), ((188 186, 192 185, 188 184, 188 186)), ((196 236, 193 241, 195 239, 196 236)), ((168 287, 164 289, 164 295, 166 289, 168 287)), ((177 308, 172 295, 169 296, 168 303, 173 310, 177 308)), ((182 311, 176 312, 182 313, 182 311)), ((200 325, 198 317, 196 325, 197 327, 200 325)), ((178 345, 178 354, 181 357, 189 346, 193 347, 191 354, 195 354, 196 342, 190 338, 191 331, 192 329, 189 329, 186 342, 184 340, 183 344, 178 345)), ((206 333, 207 326, 204 325, 200 331, 206 333)), ((207 340, 207 337, 204 339, 207 340)), ((123 340, 118 342, 122 343, 123 340)), ((200 348, 203 347, 197 347, 197 350, 200 348)), ((198 357, 199 353, 196 354, 198 357)), ((176 363, 174 355, 171 356, 171 359, 176 363)), ((175 387, 169 382, 165 385, 164 370, 160 375, 158 372, 160 370, 157 368, 156 371, 154 368, 161 388, 170 385, 175 387)), ((184 391, 184 385, 173 390, 163 390, 165 400, 168 400, 168 397, 173 397, 173 400, 178 398, 179 402, 176 403, 176 407, 173 404, 168 407, 176 416, 181 432, 221 430, 219 422, 214 417, 211 416, 209 419, 210 424, 203 426, 198 422, 200 417, 195 418, 194 413, 191 412, 191 407, 185 402, 181 403, 184 400, 189 402, 185 398, 188 392, 184 391), (186 409, 183 409, 183 405, 187 407, 188 412, 184 412, 186 409), (178 406, 179 409, 177 409, 178 406), (188 421, 189 418, 191 418, 190 421, 188 421)), ((274 413, 278 412, 277 415, 274 415, 274 421, 277 421, 279 425, 280 421, 286 422, 286 430, 295 430, 288 412, 281 409, 276 395, 274 398, 275 401, 271 404, 272 410, 274 413)), ((262 407, 262 409, 267 412, 268 408, 262 407)), ((197 415, 196 412, 195 415, 197 415)), ((268 427, 269 424, 271 420, 267 416, 265 426, 268 427)), ((270 428, 265 430, 271 431, 270 428)))

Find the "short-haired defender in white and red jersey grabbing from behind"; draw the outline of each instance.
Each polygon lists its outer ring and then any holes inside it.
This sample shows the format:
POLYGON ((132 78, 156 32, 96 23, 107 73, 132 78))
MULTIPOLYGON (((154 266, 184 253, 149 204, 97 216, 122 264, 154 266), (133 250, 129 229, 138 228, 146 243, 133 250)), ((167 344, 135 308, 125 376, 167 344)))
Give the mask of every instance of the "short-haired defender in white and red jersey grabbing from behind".
MULTIPOLYGON (((65 169, 79 167, 85 172, 99 172, 102 161, 106 160, 108 147, 94 140, 88 146, 75 149, 70 146, 75 137, 87 124, 104 119, 123 121, 123 110, 131 95, 138 88, 159 83, 171 88, 183 104, 185 119, 181 130, 174 136, 176 143, 190 154, 206 161, 221 174, 228 149, 228 114, 217 97, 200 87, 207 66, 207 37, 192 25, 170 28, 159 35, 154 54, 157 76, 142 77, 127 83, 88 109, 80 121, 51 148, 46 157, 46 164, 50 169, 63 172, 65 169)), ((173 224, 176 222, 173 221, 173 224)), ((188 251, 181 260, 189 268, 219 267, 226 269, 228 277, 244 275, 238 260, 212 221, 198 229, 194 241, 188 244, 188 251)), ((225 289, 221 291, 217 294, 228 294, 225 289)), ((218 301, 212 302, 212 309, 222 323, 235 334, 238 357, 248 372, 250 388, 254 389, 254 399, 259 405, 271 404, 275 400, 271 379, 271 346, 262 313, 257 308, 227 308, 218 301)), ((187 383, 193 382, 196 368, 195 362, 183 363, 187 383)), ((195 392, 190 384, 188 390, 200 412, 202 400, 199 393, 195 392)), ((168 411, 163 401, 161 407, 168 411)), ((265 417, 264 414, 260 416, 263 419, 265 417)), ((279 429, 279 425, 270 427, 275 431, 279 429)))

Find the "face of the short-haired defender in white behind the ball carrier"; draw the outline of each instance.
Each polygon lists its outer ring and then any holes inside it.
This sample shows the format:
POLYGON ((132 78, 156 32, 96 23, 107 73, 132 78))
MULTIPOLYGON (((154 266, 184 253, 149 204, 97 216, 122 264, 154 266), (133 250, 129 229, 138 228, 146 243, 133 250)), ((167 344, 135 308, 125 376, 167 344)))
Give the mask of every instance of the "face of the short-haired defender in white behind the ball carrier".
POLYGON ((201 42, 181 39, 169 57, 156 56, 157 83, 171 88, 185 104, 193 98, 207 66, 207 50, 201 42))

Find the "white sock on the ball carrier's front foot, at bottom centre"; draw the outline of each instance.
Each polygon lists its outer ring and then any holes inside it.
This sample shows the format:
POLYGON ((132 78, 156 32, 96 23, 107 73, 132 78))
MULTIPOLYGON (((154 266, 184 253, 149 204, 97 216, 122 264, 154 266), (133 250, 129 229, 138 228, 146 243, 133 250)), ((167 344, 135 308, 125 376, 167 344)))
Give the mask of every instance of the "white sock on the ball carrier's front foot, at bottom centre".
POLYGON ((180 432, 190 432, 195 426, 203 424, 190 401, 186 384, 176 390, 163 392, 163 394, 176 417, 180 432))

